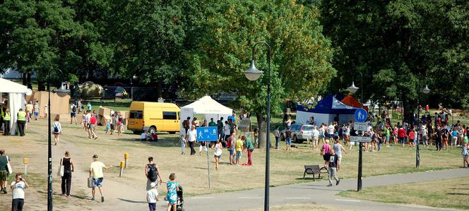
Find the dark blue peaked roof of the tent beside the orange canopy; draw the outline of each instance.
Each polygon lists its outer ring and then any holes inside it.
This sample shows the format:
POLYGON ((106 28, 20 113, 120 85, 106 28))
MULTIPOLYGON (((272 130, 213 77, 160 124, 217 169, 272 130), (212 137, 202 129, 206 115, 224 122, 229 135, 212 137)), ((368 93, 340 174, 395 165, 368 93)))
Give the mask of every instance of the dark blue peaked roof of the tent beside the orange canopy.
POLYGON ((334 95, 329 94, 316 104, 314 109, 305 109, 301 105, 297 106, 299 111, 307 111, 319 114, 355 114, 357 107, 351 107, 337 100, 334 95))

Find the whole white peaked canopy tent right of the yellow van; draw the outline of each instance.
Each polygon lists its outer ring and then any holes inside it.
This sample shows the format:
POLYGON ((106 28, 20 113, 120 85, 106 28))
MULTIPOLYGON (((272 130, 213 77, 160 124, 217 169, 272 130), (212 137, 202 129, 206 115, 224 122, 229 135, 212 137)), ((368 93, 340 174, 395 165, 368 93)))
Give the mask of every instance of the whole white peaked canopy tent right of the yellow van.
POLYGON ((213 118, 213 121, 217 121, 221 117, 228 119, 228 116, 232 115, 232 113, 233 109, 216 102, 210 96, 203 96, 196 102, 181 107, 181 115, 179 115, 181 121, 180 133, 184 134, 186 132, 182 128, 182 121, 186 120, 187 117, 193 119, 196 114, 205 114, 207 121, 210 121, 210 118, 213 118))

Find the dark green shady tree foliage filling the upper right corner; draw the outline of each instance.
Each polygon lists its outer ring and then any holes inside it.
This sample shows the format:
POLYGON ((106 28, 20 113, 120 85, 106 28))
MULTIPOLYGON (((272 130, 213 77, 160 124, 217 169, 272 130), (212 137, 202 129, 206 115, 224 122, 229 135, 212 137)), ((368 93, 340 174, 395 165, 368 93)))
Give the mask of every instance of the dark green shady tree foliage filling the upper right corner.
POLYGON ((401 100, 408 118, 426 83, 434 105, 468 106, 468 1, 321 1, 321 13, 339 73, 329 90, 361 71, 364 99, 401 100))

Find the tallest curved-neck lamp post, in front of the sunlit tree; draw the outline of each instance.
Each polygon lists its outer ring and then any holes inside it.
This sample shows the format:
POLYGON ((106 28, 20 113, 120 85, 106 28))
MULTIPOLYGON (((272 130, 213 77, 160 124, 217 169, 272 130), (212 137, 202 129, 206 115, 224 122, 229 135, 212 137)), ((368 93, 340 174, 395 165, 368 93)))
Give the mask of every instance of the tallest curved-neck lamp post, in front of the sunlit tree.
POLYGON ((261 77, 263 71, 259 71, 254 65, 254 49, 257 44, 266 44, 268 47, 268 71, 267 71, 267 131, 266 131, 266 183, 264 185, 264 211, 268 211, 268 189, 269 189, 269 164, 270 164, 270 150, 271 150, 271 46, 264 41, 256 42, 252 46, 252 59, 249 69, 244 71, 244 75, 248 80, 257 80, 261 77))

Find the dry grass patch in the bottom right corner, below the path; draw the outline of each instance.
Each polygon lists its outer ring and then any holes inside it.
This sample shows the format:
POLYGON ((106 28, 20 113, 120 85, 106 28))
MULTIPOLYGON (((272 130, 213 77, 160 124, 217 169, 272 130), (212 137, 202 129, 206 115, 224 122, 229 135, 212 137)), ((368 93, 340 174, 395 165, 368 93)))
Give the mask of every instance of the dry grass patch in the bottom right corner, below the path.
POLYGON ((422 183, 364 188, 362 192, 345 191, 340 196, 381 203, 416 204, 469 210, 469 179, 446 179, 422 183))

